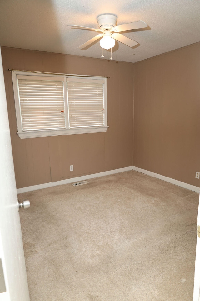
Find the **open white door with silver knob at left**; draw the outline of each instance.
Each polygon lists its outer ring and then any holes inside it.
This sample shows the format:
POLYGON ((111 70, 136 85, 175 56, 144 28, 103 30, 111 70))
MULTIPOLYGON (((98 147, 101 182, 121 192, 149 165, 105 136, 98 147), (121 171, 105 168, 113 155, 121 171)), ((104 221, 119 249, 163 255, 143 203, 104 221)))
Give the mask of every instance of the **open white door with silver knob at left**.
POLYGON ((29 301, 0 52, 0 300, 29 301), (2 267, 1 267, 2 266, 2 267))

